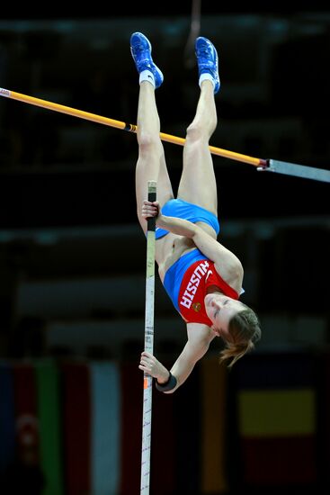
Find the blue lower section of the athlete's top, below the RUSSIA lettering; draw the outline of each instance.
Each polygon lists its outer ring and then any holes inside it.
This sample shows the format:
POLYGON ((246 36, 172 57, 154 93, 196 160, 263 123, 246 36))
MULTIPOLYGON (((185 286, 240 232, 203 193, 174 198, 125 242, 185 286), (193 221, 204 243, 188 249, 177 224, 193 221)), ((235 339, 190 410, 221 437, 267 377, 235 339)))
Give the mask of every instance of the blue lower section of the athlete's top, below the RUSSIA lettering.
POLYGON ((170 296, 176 311, 179 311, 178 300, 181 283, 183 282, 183 275, 192 263, 195 263, 195 261, 199 261, 200 259, 206 259, 206 257, 199 249, 193 249, 193 251, 183 255, 183 257, 179 257, 179 259, 175 261, 174 265, 170 266, 165 273, 165 291, 170 296))

